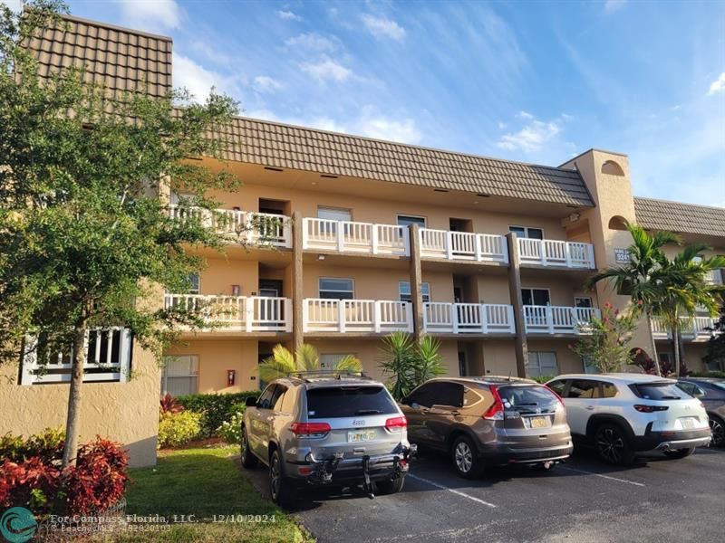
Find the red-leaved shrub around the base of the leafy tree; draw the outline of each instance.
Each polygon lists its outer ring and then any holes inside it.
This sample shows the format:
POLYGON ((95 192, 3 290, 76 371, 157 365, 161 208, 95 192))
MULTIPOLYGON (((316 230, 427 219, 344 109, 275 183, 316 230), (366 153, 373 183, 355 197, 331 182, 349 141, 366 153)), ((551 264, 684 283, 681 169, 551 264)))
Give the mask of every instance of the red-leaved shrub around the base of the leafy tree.
POLYGON ((129 477, 128 455, 118 443, 96 437, 82 445, 76 465, 61 471, 63 446, 55 447, 59 433, 45 431, 23 440, 6 434, 3 443, 29 451, 40 447, 47 456, 31 456, 0 463, 0 506, 26 507, 34 513, 76 515, 108 509, 120 500, 129 477), (46 446, 43 449, 43 446, 46 446), (52 445, 52 446, 50 446, 52 445), (49 451, 56 451, 51 455, 49 451))

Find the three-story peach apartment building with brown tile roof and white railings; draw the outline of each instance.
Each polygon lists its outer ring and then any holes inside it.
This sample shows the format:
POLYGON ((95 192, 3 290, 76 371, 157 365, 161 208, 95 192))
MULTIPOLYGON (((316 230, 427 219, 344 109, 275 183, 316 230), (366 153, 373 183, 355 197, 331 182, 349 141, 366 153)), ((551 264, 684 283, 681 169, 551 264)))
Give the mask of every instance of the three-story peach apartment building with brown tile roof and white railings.
MULTIPOLYGON (((169 38, 67 22, 30 43, 43 70, 80 63, 110 90, 170 88, 169 38)), ((590 149, 547 167, 245 118, 226 137, 226 166, 244 181, 215 194, 226 252, 206 252, 193 291, 163 300, 204 305, 224 326, 185 332, 162 369, 123 330, 92 340, 99 369, 88 373, 82 433, 129 444, 137 465, 155 458, 160 392, 255 389, 276 344, 311 343, 325 366, 353 353, 384 378, 382 337, 401 330, 440 338, 449 375, 583 371, 568 345, 606 301, 627 304, 607 285, 585 289, 594 271, 627 258, 624 221, 725 253, 725 210, 634 197, 619 153, 590 149)), ((180 196, 171 180, 169 214, 184 220, 180 196)), ((694 319, 684 334, 692 369, 703 369, 710 323, 694 319)), ((666 330, 655 323, 653 333, 656 355, 672 357, 666 330)), ((646 327, 634 344, 649 353, 646 327)), ((50 378, 31 360, 0 368, 0 411, 14 415, 0 433, 62 424, 62 366, 50 378)))

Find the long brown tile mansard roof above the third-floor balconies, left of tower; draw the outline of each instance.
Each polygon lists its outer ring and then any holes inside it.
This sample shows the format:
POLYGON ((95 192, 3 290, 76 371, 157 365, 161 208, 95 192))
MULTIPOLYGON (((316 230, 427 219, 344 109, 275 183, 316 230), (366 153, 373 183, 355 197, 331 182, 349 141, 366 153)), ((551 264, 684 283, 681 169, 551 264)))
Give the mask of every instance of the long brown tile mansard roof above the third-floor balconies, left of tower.
POLYGON ((578 172, 237 118, 227 160, 415 186, 594 206, 578 172))

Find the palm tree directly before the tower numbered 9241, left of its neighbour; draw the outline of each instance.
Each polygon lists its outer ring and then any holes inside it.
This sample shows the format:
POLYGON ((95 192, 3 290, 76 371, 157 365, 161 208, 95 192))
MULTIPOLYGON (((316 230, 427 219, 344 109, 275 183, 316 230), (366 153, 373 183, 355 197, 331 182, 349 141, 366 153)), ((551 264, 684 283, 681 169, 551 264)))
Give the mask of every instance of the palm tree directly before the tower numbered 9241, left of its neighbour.
POLYGON ((662 297, 662 281, 667 282, 666 268, 669 261, 662 247, 670 243, 679 244, 680 237, 672 232, 651 235, 636 224, 626 223, 625 226, 633 240, 629 247, 630 262, 600 271, 587 281, 587 286, 591 289, 600 281, 612 281, 617 292, 629 294, 635 310, 643 311, 652 342, 652 359, 659 376, 662 371, 657 358, 657 345, 652 337, 652 316, 662 297))

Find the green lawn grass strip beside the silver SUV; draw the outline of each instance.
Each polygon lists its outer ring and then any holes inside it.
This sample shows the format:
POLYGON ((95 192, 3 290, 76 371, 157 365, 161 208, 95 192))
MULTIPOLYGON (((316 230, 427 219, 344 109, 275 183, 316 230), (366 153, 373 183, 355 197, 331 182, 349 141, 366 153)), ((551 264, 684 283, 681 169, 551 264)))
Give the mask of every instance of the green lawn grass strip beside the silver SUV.
POLYGON ((262 498, 239 469, 236 447, 203 447, 160 452, 155 468, 131 470, 128 515, 196 516, 196 523, 172 524, 167 532, 124 532, 117 542, 282 542, 312 541, 283 510, 262 498), (212 522, 213 515, 261 515, 270 522, 212 522), (205 520, 206 519, 206 520, 205 520))

